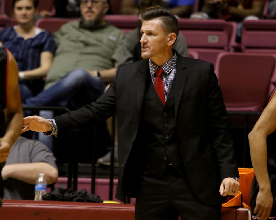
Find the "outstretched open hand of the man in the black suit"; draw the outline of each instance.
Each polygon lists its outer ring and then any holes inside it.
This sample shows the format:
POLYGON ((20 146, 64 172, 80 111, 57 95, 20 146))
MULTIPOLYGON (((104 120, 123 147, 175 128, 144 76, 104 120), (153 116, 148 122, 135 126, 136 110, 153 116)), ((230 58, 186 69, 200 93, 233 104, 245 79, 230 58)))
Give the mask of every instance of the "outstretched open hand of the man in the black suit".
POLYGON ((37 132, 53 131, 52 123, 48 119, 37 115, 23 118, 23 127, 21 133, 29 130, 37 132))

